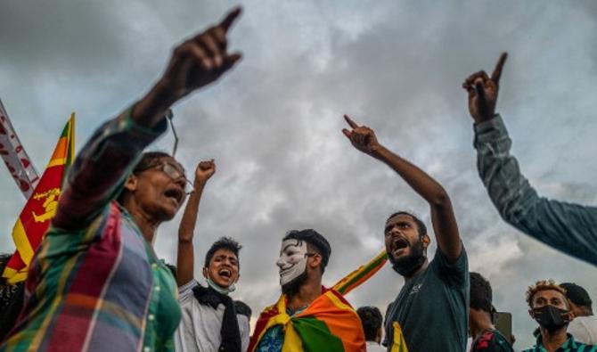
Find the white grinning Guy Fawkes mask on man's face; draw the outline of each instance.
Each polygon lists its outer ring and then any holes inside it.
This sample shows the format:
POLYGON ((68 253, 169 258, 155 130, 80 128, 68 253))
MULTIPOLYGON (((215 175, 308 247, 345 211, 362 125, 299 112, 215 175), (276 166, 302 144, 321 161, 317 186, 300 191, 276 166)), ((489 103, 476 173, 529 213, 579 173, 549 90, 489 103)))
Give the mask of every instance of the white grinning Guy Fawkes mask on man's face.
POLYGON ((275 262, 280 268, 280 285, 296 279, 307 270, 307 242, 289 239, 282 241, 280 258, 275 262))

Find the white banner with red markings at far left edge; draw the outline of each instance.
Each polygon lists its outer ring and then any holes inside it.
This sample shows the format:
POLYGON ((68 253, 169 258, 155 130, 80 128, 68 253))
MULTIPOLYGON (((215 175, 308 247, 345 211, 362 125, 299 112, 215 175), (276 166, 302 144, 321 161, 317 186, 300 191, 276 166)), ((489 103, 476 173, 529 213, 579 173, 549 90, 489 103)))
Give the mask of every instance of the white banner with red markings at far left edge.
POLYGON ((29 200, 31 192, 39 181, 39 176, 12 128, 2 100, 0 100, 0 155, 12 178, 19 186, 20 192, 23 193, 25 199, 29 200))

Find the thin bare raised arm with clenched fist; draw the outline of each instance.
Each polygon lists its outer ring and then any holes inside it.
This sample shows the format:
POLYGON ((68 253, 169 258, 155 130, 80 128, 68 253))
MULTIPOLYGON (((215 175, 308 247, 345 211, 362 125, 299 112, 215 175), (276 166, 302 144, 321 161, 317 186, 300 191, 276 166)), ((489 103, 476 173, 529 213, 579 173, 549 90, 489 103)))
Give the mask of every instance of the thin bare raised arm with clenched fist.
POLYGON ((176 283, 178 286, 191 282, 194 278, 194 250, 192 238, 197 224, 199 203, 203 188, 209 177, 216 173, 214 160, 201 161, 195 169, 194 191, 184 208, 183 219, 178 227, 178 255, 176 259, 176 283))

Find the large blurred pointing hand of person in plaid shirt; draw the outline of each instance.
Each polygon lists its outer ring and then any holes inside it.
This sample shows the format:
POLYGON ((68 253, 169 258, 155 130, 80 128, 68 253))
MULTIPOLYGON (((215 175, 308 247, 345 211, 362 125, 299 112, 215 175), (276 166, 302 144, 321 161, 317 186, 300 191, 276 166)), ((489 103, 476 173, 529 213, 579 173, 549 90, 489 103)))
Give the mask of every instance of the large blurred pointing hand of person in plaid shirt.
POLYGON ((228 53, 226 38, 240 14, 241 8, 238 7, 228 12, 216 26, 176 47, 158 84, 160 93, 170 104, 214 82, 241 59, 240 53, 228 53))

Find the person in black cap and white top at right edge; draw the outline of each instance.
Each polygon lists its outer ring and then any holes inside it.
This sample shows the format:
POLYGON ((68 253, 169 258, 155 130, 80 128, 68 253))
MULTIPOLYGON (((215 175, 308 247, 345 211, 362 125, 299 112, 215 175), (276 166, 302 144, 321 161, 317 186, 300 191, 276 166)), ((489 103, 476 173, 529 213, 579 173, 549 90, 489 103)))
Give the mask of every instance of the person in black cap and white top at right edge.
POLYGON ((597 316, 593 315, 593 301, 589 293, 572 282, 560 283, 560 286, 566 290, 566 298, 574 313, 574 320, 568 325, 568 333, 577 341, 597 345, 597 316))

